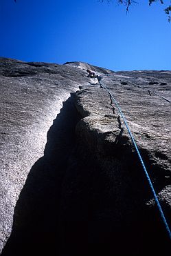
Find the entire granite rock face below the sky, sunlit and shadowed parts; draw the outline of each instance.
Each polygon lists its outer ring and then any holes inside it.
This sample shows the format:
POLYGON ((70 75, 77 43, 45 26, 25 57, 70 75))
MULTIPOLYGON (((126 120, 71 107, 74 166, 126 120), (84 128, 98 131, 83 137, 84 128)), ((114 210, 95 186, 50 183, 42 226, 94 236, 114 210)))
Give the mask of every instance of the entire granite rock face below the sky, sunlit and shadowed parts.
POLYGON ((0 58, 2 255, 168 255, 122 117, 87 69, 122 108, 170 226, 171 71, 0 58))

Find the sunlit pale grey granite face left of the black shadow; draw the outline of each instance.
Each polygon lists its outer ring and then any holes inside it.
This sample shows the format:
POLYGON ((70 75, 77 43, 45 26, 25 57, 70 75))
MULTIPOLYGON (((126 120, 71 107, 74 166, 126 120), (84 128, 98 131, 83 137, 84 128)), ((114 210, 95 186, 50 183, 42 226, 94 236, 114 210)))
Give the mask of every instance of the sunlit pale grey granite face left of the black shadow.
POLYGON ((62 101, 88 83, 86 75, 70 66, 0 59, 0 251, 12 230, 16 201, 30 169, 44 155, 47 132, 62 101))

